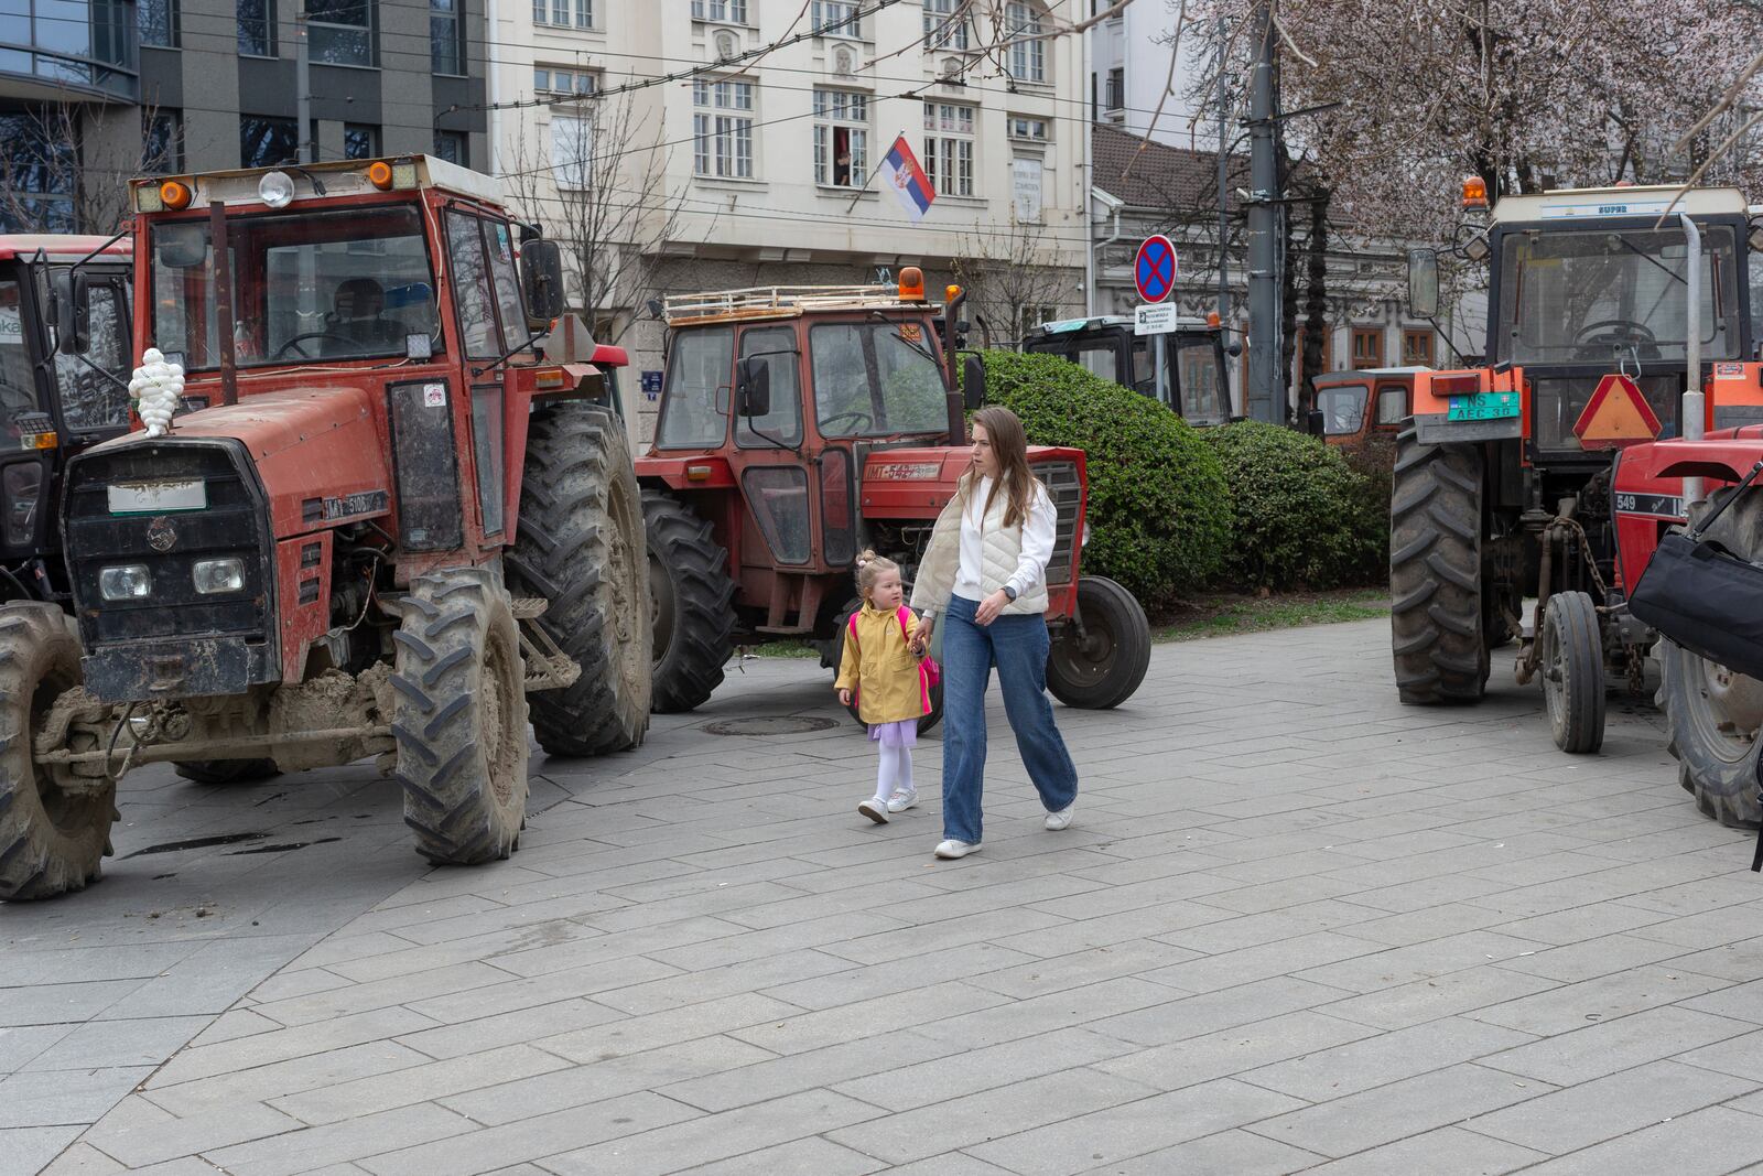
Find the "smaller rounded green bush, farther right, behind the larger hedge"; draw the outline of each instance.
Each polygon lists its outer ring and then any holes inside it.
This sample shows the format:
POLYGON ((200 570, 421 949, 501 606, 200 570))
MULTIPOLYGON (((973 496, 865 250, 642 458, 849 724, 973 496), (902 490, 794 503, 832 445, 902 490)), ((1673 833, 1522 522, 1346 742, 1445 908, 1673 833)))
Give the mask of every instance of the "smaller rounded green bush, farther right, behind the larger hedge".
POLYGON ((1328 589, 1375 578, 1389 545, 1387 492, 1340 451, 1259 421, 1209 428, 1206 441, 1231 483, 1231 587, 1328 589))

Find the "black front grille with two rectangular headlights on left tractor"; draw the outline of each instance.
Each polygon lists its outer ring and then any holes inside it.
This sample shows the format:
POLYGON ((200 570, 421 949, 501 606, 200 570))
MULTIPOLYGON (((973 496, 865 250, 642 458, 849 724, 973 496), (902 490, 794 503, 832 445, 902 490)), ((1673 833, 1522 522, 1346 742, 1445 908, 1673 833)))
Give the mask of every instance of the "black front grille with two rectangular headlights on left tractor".
POLYGON ((88 651, 166 636, 264 640, 273 615, 275 557, 270 511, 245 451, 229 441, 152 441, 88 453, 69 465, 67 554, 79 636, 88 651), (113 487, 166 488, 201 483, 203 504, 138 510, 113 502, 113 487), (113 510, 122 508, 122 510, 113 510), (199 594, 197 561, 234 557, 245 584, 199 594), (99 573, 138 564, 152 594, 104 599, 99 573))

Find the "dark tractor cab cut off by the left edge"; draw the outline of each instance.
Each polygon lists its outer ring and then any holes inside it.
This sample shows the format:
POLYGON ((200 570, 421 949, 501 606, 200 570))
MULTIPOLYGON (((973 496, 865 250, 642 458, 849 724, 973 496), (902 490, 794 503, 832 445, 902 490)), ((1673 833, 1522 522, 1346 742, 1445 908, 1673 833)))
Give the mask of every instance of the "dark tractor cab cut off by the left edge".
POLYGON ((127 238, 0 236, 0 601, 67 598, 62 464, 129 428, 130 367, 127 238))

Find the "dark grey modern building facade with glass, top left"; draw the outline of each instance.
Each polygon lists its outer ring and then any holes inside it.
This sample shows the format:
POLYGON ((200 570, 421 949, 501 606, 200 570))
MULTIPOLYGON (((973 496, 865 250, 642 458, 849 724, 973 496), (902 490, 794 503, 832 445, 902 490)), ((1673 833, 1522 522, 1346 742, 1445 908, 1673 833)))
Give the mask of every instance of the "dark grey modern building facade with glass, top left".
POLYGON ((483 4, 0 0, 0 222, 113 229, 141 173, 418 152, 481 166, 483 4))

